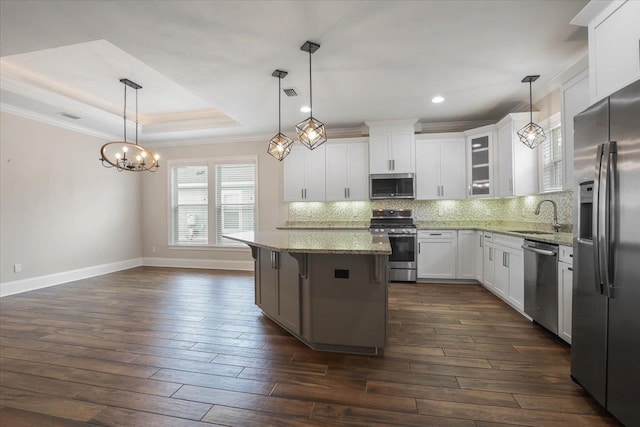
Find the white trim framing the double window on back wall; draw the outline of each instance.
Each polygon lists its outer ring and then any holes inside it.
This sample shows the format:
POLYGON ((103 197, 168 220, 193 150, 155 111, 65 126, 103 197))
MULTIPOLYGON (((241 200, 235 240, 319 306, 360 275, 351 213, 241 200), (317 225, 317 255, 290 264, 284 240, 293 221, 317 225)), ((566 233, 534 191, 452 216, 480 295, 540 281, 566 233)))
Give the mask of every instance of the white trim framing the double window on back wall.
POLYGON ((171 250, 230 250, 234 252, 247 252, 249 250, 248 247, 242 246, 231 246, 231 245, 219 245, 215 244, 216 242, 216 232, 217 232, 217 221, 216 221, 216 181, 215 181, 215 166, 217 164, 231 164, 231 163, 253 163, 254 164, 254 221, 255 221, 255 229, 259 228, 259 169, 258 169, 258 156, 255 154, 248 155, 237 155, 237 156, 220 156, 220 157, 204 157, 198 159, 174 159, 167 160, 167 248, 171 250), (174 167, 179 166, 197 166, 197 165, 207 165, 208 174, 209 174, 209 182, 208 182, 208 222, 209 222, 209 235, 208 240, 209 243, 205 245, 177 245, 173 243, 173 199, 171 195, 172 191, 172 183, 171 183, 171 170, 174 167), (213 201, 213 206, 211 205, 211 201, 213 201), (213 234, 212 234, 213 233, 213 234), (212 243, 214 242, 214 243, 212 243))

